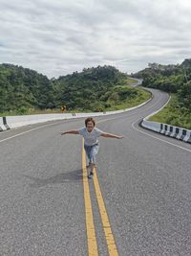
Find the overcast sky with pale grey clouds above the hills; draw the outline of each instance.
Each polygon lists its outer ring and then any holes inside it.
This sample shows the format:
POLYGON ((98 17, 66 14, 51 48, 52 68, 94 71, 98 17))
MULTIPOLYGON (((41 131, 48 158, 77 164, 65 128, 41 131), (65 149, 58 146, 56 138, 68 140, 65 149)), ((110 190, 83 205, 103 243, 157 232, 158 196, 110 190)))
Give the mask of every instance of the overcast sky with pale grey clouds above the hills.
POLYGON ((191 58, 190 0, 0 0, 0 63, 49 78, 191 58))

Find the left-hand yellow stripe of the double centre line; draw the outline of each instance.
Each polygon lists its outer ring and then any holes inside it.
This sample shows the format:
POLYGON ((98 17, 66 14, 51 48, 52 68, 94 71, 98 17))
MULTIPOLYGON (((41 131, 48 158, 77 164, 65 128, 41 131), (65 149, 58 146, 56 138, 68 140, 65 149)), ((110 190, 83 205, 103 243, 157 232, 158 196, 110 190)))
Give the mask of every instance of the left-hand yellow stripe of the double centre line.
POLYGON ((84 201, 85 201, 85 214, 86 214, 86 229, 88 238, 88 255, 98 256, 96 244, 96 232, 92 211, 92 202, 90 198, 90 189, 88 184, 87 169, 86 169, 86 155, 84 151, 84 139, 82 143, 82 170, 83 170, 83 187, 84 187, 84 201))

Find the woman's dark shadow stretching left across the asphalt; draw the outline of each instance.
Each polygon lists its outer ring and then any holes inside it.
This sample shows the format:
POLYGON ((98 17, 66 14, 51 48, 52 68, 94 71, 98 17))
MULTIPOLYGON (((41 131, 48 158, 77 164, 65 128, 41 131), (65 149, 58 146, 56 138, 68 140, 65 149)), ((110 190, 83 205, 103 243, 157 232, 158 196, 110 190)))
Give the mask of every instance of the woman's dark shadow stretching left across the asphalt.
POLYGON ((24 175, 27 178, 32 179, 33 183, 30 184, 32 188, 39 188, 46 186, 48 184, 61 184, 65 182, 78 182, 83 179, 82 170, 74 170, 69 173, 63 173, 59 175, 54 175, 48 178, 38 178, 38 177, 32 177, 29 175, 24 175))

